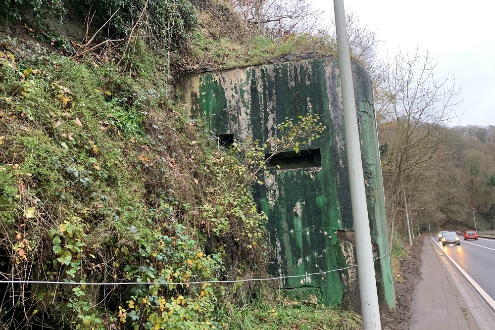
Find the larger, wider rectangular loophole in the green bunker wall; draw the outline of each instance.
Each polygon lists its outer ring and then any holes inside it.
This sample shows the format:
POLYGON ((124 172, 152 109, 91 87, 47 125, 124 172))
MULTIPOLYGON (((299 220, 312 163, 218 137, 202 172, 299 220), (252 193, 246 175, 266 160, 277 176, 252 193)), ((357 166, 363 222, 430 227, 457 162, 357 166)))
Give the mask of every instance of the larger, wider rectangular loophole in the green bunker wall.
MULTIPOLYGON (((266 154, 265 159, 270 157, 271 154, 266 154)), ((308 167, 320 167, 321 166, 321 153, 319 148, 306 149, 296 151, 281 152, 275 156, 267 164, 269 171, 276 170, 297 170, 308 167), (277 167, 280 166, 279 167, 277 167)))

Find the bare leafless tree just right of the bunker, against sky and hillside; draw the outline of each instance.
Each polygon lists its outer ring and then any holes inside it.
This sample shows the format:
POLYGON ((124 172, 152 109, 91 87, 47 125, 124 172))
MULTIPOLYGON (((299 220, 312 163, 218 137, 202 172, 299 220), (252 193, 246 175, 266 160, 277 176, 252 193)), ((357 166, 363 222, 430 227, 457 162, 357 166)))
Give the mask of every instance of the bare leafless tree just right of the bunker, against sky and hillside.
POLYGON ((385 98, 379 123, 386 198, 392 232, 402 189, 431 186, 433 171, 448 153, 444 134, 456 117, 460 90, 455 79, 439 80, 430 54, 397 52, 389 57, 381 81, 385 98))

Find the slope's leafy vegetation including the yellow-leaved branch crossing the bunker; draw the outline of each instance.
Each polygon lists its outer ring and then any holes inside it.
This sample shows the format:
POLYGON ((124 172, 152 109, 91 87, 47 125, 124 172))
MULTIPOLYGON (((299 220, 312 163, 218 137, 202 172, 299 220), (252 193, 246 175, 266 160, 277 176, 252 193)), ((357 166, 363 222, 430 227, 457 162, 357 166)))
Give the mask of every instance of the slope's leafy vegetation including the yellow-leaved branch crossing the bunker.
MULTIPOLYGON (((230 153, 148 74, 130 80, 114 67, 0 53, 0 237, 15 266, 6 276, 171 283, 103 295, 86 284, 26 285, 10 308, 26 323, 57 315, 60 329, 221 329, 226 306, 249 301, 252 286, 202 282, 266 276, 266 216, 250 188, 264 150, 297 150, 324 127, 288 119, 276 138, 230 153)), ((6 292, 4 304, 15 294, 6 292)))

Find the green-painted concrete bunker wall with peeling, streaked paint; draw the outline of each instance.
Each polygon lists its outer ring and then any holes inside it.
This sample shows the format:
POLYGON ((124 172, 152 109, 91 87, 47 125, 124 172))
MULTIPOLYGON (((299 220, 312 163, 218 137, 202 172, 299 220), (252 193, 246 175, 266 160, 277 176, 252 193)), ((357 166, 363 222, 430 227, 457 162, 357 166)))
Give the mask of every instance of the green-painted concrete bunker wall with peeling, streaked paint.
MULTIPOLYGON (((375 257, 389 252, 373 93, 367 71, 354 64, 356 109, 362 140, 368 212, 375 257)), ((320 148, 321 167, 273 171, 257 188, 260 209, 275 250, 271 272, 306 275, 355 265, 354 236, 342 123, 338 61, 333 57, 205 73, 181 80, 186 111, 204 115, 218 134, 237 140, 266 140, 286 117, 307 112, 327 126, 320 148)), ((267 151, 268 152, 268 151, 267 151)), ((376 261, 382 302, 395 305, 390 255, 376 261)), ((327 305, 359 308, 356 268, 289 278, 285 288, 320 288, 327 305)))

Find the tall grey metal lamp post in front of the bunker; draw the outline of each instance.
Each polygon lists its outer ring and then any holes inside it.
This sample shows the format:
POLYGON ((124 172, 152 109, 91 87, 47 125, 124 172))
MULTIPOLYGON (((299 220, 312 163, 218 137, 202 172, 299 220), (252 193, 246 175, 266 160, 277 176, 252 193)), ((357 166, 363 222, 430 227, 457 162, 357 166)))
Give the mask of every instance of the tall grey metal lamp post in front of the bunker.
POLYGON ((357 126, 356 100, 354 98, 354 84, 352 82, 352 69, 350 66, 344 0, 334 0, 334 9, 363 329, 379 330, 382 329, 382 325, 378 307, 371 233, 366 205, 366 192, 364 189, 361 140, 357 126))

